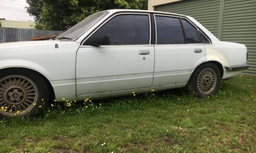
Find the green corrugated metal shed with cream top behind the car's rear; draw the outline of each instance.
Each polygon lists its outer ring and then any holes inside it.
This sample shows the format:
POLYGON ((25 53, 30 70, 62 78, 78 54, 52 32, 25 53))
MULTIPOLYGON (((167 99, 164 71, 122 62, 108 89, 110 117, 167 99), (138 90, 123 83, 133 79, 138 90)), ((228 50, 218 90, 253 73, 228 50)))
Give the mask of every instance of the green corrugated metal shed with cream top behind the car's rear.
POLYGON ((256 0, 181 0, 154 9, 192 16, 219 40, 245 44, 250 67, 244 74, 256 75, 256 0))

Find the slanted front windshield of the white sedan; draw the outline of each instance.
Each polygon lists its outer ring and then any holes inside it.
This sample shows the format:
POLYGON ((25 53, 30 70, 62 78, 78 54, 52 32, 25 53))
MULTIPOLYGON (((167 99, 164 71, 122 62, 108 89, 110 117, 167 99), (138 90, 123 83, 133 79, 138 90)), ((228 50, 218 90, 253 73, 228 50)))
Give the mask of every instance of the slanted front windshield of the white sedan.
POLYGON ((61 35, 57 36, 57 39, 76 39, 78 36, 83 34, 89 27, 96 23, 101 17, 106 15, 107 12, 98 12, 87 16, 84 20, 76 24, 75 26, 69 28, 67 31, 63 32, 61 35))

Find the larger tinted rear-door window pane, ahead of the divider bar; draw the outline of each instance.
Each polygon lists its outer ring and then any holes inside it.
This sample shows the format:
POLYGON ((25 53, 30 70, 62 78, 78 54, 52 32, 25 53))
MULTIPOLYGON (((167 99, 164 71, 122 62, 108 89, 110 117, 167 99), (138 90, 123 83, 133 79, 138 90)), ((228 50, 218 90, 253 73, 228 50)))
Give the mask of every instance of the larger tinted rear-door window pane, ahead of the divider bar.
POLYGON ((184 35, 180 19, 155 16, 157 25, 157 44, 184 44, 184 35))

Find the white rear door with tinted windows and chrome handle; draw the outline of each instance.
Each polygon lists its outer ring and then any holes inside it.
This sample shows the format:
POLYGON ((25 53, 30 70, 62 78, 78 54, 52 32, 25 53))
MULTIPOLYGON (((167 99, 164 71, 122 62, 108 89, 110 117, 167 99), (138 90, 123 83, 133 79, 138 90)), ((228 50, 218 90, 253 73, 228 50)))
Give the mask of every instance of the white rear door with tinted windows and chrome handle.
POLYGON ((155 15, 155 70, 152 86, 186 83, 197 64, 206 60, 198 30, 187 19, 155 15))

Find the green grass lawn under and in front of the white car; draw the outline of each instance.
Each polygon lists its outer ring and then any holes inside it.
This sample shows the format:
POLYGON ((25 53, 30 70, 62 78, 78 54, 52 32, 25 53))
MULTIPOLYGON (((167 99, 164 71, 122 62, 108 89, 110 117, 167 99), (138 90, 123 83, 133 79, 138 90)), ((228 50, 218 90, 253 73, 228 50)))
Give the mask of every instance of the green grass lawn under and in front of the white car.
POLYGON ((222 81, 205 99, 173 89, 88 103, 4 119, 0 152, 256 152, 256 77, 222 81))

